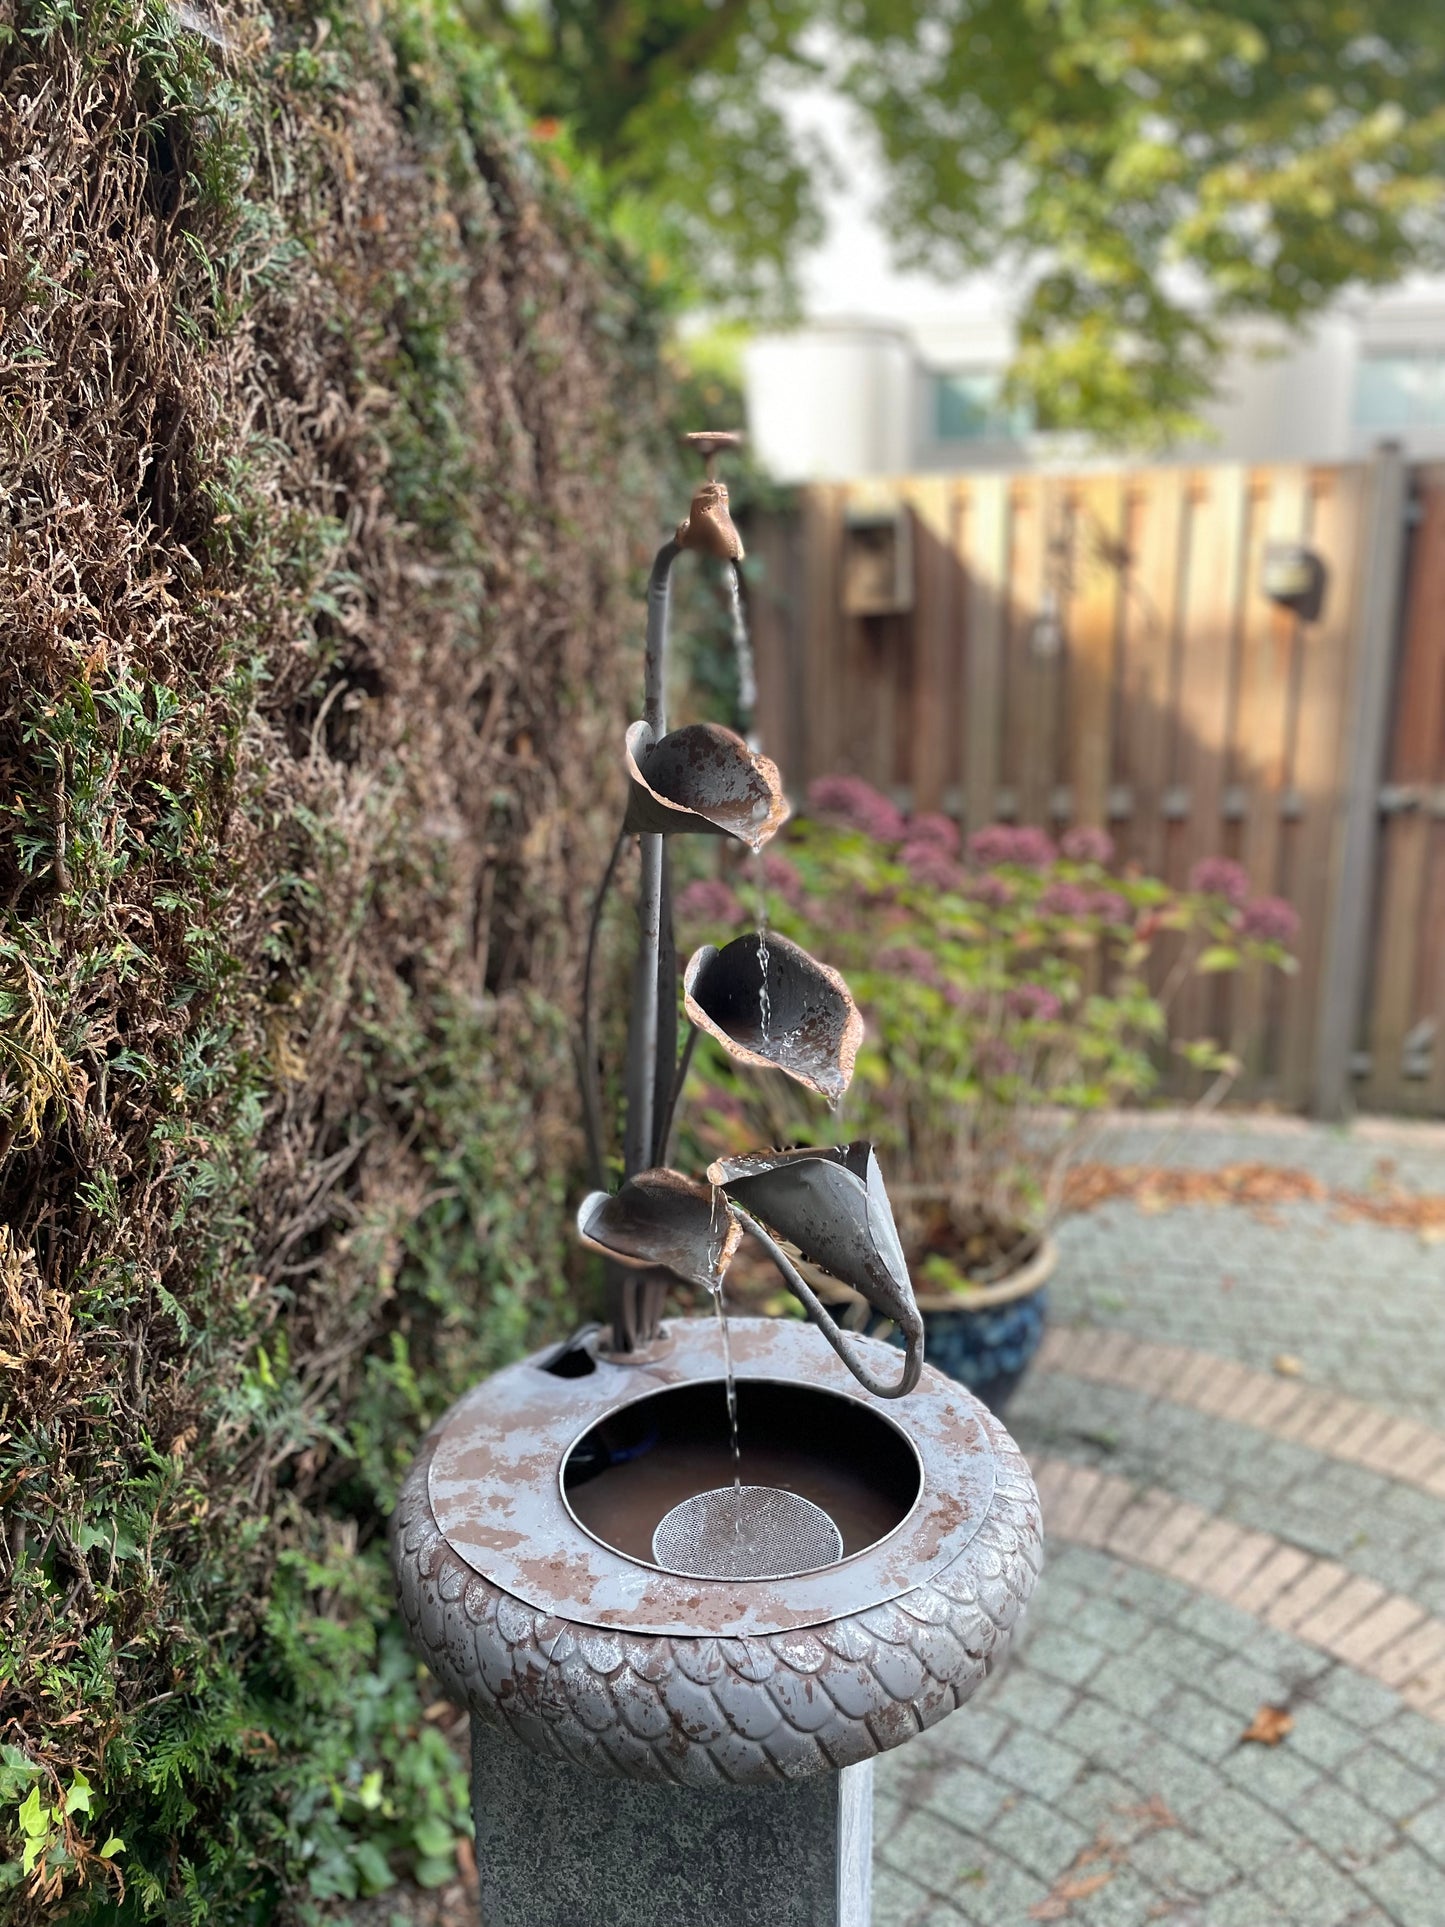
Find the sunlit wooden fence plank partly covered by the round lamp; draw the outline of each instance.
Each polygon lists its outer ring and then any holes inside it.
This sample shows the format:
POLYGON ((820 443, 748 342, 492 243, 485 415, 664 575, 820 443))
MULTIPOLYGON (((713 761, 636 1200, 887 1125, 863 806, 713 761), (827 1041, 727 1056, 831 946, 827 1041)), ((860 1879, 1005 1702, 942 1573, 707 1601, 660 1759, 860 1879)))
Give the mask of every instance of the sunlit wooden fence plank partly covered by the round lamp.
MULTIPOLYGON (((1291 609, 1270 601, 1260 588, 1260 570, 1272 541, 1304 540, 1308 474, 1304 468, 1270 468, 1256 476, 1254 486, 1231 777, 1245 800, 1241 861, 1254 890, 1272 896, 1279 888, 1279 813, 1289 769, 1289 688, 1299 620, 1291 609)), ((1241 1091, 1250 1091, 1264 1071, 1270 990, 1272 979, 1262 965, 1241 971, 1229 1031, 1229 1048, 1245 1066, 1241 1091)))

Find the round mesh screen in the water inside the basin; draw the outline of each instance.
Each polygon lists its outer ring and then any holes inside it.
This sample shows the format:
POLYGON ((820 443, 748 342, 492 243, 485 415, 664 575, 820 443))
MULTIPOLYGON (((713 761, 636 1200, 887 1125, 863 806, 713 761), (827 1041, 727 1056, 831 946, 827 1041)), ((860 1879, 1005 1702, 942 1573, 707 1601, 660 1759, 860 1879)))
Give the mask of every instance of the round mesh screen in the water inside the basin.
POLYGON ((842 1532, 798 1491, 719 1486, 665 1515, 653 1559, 682 1578, 790 1578, 842 1559, 842 1532))

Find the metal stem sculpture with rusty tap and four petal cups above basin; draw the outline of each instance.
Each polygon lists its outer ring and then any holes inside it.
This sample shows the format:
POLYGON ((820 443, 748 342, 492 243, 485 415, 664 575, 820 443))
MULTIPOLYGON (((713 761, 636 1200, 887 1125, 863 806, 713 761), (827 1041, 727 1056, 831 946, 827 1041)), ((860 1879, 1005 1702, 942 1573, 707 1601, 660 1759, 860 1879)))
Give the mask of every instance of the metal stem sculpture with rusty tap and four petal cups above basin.
POLYGON ((657 551, 647 580, 644 717, 626 734, 628 807, 588 937, 580 1069, 595 1189, 578 1212, 578 1237, 609 1260, 617 1351, 636 1351, 657 1337, 659 1280, 667 1274, 721 1293, 728 1262, 749 1231, 854 1376, 880 1397, 900 1397, 913 1389, 923 1368, 923 1324, 871 1145, 732 1158, 713 1166, 709 1183, 667 1168, 672 1120, 699 1033, 715 1037, 740 1064, 780 1069, 834 1104, 848 1091, 863 1041, 863 1019, 838 971, 786 937, 753 931, 690 958, 682 983, 690 1029, 682 1050, 676 1046, 669 838, 730 836, 757 852, 788 817, 775 763, 742 736, 707 723, 670 734, 667 728, 672 563, 682 549, 722 561, 732 568, 736 605, 742 561, 728 491, 713 478, 717 457, 740 437, 709 432, 688 439, 709 474, 674 540, 657 551), (603 902, 630 836, 638 838, 642 858, 640 942, 624 1077, 624 1183, 609 1195, 591 979, 603 902), (869 1370, 784 1247, 859 1291, 898 1326, 906 1357, 896 1384, 882 1384, 869 1370))

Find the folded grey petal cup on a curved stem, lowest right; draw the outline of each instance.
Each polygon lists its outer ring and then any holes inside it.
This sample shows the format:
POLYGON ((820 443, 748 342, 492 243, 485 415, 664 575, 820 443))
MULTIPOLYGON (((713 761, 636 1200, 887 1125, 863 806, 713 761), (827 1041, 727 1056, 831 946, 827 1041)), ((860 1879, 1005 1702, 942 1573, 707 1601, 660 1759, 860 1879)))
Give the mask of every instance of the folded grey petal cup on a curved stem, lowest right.
POLYGON ((719 1158, 711 1183, 904 1332, 921 1328, 873 1145, 719 1158))

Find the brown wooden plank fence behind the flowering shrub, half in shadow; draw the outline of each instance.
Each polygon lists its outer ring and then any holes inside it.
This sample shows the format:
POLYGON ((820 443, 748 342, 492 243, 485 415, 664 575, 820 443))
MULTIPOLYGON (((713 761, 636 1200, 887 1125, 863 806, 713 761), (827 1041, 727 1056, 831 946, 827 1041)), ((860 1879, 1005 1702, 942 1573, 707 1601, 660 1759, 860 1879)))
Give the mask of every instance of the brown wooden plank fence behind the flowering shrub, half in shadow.
POLYGON ((1445 1112, 1445 470, 815 486, 751 530, 749 595, 800 790, 1106 825, 1175 883, 1237 858, 1300 971, 1193 983, 1179 1033, 1227 1037, 1252 1098, 1445 1112))

